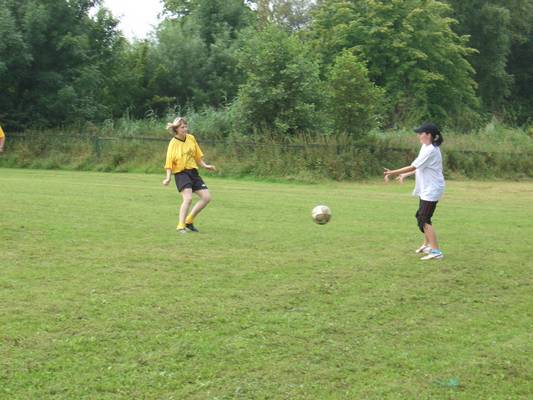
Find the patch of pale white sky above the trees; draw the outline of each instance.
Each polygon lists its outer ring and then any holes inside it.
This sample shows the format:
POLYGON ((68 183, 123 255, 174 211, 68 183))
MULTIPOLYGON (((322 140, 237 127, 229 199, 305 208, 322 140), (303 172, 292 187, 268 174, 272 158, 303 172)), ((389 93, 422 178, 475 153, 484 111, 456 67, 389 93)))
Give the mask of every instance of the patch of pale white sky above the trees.
POLYGON ((104 6, 120 19, 119 29, 128 39, 145 39, 159 22, 160 0, 104 0, 104 6))

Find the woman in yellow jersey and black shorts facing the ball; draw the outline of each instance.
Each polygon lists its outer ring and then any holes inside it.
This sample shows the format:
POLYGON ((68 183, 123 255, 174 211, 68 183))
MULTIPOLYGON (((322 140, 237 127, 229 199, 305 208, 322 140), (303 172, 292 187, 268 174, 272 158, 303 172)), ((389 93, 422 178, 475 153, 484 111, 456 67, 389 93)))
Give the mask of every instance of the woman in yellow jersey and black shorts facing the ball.
POLYGON ((198 232, 193 224, 194 218, 211 201, 211 194, 198 174, 198 165, 209 171, 216 171, 216 168, 204 162, 204 153, 194 136, 188 133, 187 121, 184 118, 176 118, 174 122, 167 124, 167 129, 174 137, 168 144, 165 162, 167 175, 163 180, 163 185, 168 186, 171 174, 174 174, 176 187, 183 199, 176 229, 179 233, 198 232), (187 214, 192 203, 193 192, 200 197, 200 200, 187 214))

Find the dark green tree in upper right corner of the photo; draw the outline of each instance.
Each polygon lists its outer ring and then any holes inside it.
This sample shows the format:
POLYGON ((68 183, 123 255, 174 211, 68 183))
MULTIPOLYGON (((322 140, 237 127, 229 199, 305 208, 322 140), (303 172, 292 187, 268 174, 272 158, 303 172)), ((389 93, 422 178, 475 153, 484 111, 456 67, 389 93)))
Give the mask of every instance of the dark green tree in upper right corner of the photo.
POLYGON ((530 108, 533 100, 524 89, 531 86, 533 0, 447 2, 459 21, 455 29, 468 35, 469 45, 477 50, 468 59, 476 70, 484 108, 498 114, 509 103, 516 111, 530 108))

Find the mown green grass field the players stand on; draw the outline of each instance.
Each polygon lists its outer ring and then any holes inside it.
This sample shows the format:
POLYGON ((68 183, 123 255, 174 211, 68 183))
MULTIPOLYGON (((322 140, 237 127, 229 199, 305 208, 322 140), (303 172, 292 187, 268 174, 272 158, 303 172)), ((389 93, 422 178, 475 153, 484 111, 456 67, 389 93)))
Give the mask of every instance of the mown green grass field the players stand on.
POLYGON ((2 399, 531 399, 533 187, 0 169, 2 399), (318 226, 311 208, 328 204, 318 226))

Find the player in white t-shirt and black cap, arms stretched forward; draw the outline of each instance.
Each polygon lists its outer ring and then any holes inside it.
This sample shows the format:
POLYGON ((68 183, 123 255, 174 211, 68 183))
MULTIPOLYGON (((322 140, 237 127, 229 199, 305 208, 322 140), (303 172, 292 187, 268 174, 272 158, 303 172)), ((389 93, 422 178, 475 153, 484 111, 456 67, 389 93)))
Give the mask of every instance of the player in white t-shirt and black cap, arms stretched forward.
POLYGON ((407 167, 389 170, 385 168, 383 175, 388 182, 390 176, 397 175, 400 183, 409 176, 416 174, 413 196, 420 198, 416 220, 418 228, 424 234, 424 243, 416 253, 425 253, 421 260, 441 260, 444 255, 439 249, 437 234, 431 223, 431 217, 437 203, 444 193, 444 175, 442 173, 442 155, 439 146, 443 142, 439 128, 432 123, 425 123, 415 129, 422 144, 418 157, 407 167))

